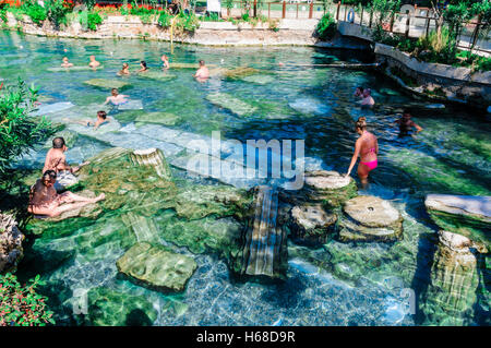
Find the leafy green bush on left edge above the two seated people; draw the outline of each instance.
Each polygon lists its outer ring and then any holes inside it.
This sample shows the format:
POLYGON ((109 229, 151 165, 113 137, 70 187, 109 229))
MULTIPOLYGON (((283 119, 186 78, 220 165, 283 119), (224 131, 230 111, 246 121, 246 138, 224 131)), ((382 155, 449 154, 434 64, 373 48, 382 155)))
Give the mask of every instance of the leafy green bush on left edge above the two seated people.
POLYGON ((26 87, 22 80, 16 86, 0 91, 0 176, 19 156, 36 144, 44 143, 57 129, 44 117, 34 118, 37 89, 26 87))

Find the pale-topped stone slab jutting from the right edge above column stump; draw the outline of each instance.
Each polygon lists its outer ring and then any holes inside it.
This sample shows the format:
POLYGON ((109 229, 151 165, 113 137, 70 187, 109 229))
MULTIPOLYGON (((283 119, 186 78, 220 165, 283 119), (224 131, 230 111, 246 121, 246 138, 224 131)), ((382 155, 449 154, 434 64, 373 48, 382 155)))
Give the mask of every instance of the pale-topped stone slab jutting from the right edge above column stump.
POLYGON ((429 194, 424 205, 441 228, 491 248, 491 196, 429 194))

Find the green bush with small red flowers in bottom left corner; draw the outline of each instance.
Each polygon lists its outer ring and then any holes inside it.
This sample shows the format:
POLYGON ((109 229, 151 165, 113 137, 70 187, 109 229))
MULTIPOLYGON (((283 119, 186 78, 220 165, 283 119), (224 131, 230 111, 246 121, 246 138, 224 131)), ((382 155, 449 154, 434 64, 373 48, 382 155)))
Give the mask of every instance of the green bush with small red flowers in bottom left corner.
POLYGON ((0 275, 0 326, 46 326, 55 324, 46 298, 36 293, 44 283, 39 275, 22 287, 17 278, 8 273, 0 275))

